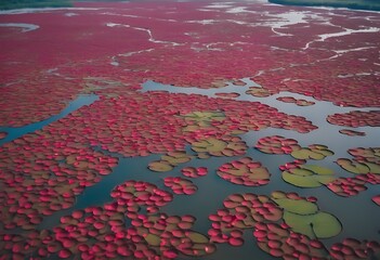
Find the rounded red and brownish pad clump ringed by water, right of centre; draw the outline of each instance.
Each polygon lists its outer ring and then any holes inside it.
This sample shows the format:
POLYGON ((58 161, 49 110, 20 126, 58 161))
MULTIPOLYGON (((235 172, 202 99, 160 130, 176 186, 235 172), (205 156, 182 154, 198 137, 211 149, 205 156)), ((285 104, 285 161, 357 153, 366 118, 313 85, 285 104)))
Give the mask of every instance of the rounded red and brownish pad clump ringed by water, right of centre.
POLYGON ((218 176, 234 184, 260 186, 270 182, 270 172, 259 161, 250 157, 224 164, 218 169, 218 176))

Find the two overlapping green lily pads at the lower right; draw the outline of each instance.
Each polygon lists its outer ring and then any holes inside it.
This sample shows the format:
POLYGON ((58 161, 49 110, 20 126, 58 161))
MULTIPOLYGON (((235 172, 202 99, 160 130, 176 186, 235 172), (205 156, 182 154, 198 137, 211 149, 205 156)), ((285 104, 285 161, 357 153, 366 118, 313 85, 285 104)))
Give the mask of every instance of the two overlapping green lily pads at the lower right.
POLYGON ((294 193, 275 192, 272 200, 284 209, 284 221, 293 232, 310 238, 329 238, 338 235, 342 225, 328 212, 319 210, 315 199, 305 199, 294 193))

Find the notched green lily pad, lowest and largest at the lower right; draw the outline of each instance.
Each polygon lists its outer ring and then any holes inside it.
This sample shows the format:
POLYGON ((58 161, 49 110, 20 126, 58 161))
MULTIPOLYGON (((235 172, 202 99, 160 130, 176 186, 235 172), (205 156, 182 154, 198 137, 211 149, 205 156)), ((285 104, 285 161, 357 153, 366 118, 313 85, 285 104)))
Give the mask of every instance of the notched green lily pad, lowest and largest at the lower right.
POLYGON ((284 221, 294 231, 311 238, 329 238, 338 235, 342 230, 339 220, 327 212, 318 211, 314 214, 297 214, 284 212, 284 221))

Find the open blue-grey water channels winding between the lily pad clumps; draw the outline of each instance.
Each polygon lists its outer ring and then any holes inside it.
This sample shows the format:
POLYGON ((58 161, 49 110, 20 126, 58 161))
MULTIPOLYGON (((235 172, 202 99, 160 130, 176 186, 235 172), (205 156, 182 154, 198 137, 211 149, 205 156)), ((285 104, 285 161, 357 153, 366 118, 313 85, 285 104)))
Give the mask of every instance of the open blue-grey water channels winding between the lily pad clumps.
MULTIPOLYGON (((196 217, 197 221, 195 222, 193 230, 197 232, 207 234, 208 230, 211 227, 211 221, 208 220, 208 216, 210 213, 215 213, 218 209, 223 208, 223 200, 231 194, 254 193, 258 195, 268 196, 274 191, 284 191, 296 192, 300 196, 317 197, 318 207, 326 212, 335 214, 340 220, 343 225, 342 232, 336 237, 323 239, 323 243, 326 247, 329 247, 333 243, 340 242, 345 237, 378 240, 380 235, 378 233, 378 230, 374 227, 377 226, 379 216, 371 213, 378 210, 378 206, 371 202, 371 197, 379 193, 377 191, 378 187, 367 185, 367 191, 359 193, 357 196, 349 198, 340 197, 330 192, 325 186, 316 188, 296 187, 283 181, 280 170, 278 169, 278 166, 292 161, 292 157, 290 155, 267 155, 253 148, 259 139, 268 135, 283 135, 285 138, 296 139, 299 141, 299 144, 301 146, 307 146, 310 144, 325 144, 328 145, 329 150, 335 152, 335 155, 326 157, 323 161, 312 160, 311 164, 317 164, 331 168, 338 177, 343 177, 344 171, 333 161, 342 157, 350 158, 350 155, 346 153, 346 151, 352 147, 380 146, 380 141, 378 141, 379 139, 377 138, 379 135, 379 128, 356 128, 355 130, 363 131, 366 133, 366 135, 349 136, 339 133, 339 130, 343 128, 350 128, 331 125, 326 121, 326 118, 328 115, 332 115, 335 113, 346 113, 350 110, 371 110, 375 108, 338 107, 330 102, 316 101, 311 96, 294 94, 290 92, 281 92, 268 98, 254 98, 250 94, 246 94, 246 91, 250 87, 260 88, 260 86, 255 84, 248 78, 243 79, 243 81, 247 83, 244 87, 230 83, 224 88, 206 90, 198 88, 178 88, 173 86, 156 83, 154 81, 147 81, 143 84, 142 91, 169 91, 170 93, 201 94, 209 98, 218 98, 218 95, 215 95, 217 93, 237 92, 240 95, 235 100, 261 102, 272 107, 276 107, 278 110, 287 113, 289 115, 303 116, 307 120, 312 121, 313 125, 318 126, 318 129, 310 133, 298 133, 290 130, 267 128, 260 131, 250 131, 239 135, 249 147, 245 156, 249 156, 254 160, 261 161, 262 165, 266 167, 271 172, 271 182, 268 184, 258 187, 235 185, 222 180, 219 176, 215 174, 218 168, 221 165, 230 162, 234 159, 238 159, 241 156, 212 156, 208 159, 194 158, 186 164, 181 164, 171 171, 165 173, 155 173, 148 170, 147 166, 150 161, 158 160, 160 155, 126 158, 118 154, 102 151, 105 154, 110 154, 113 156, 119 157, 119 164, 114 168, 114 171, 109 176, 103 177, 101 182, 86 188, 81 195, 77 196, 76 205, 73 208, 61 210, 50 217, 47 217, 44 221, 39 225, 39 227, 52 229, 60 223, 61 217, 70 214, 74 210, 83 209, 89 206, 102 206, 105 203, 112 202, 113 199, 109 196, 112 190, 116 185, 121 184, 128 180, 150 182, 160 188, 168 190, 163 185, 163 178, 179 177, 181 176, 181 168, 192 166, 207 167, 209 172, 205 177, 192 179, 194 184, 198 187, 197 192, 193 195, 175 195, 170 204, 161 208, 161 211, 168 214, 192 214, 196 217), (276 100, 279 96, 304 99, 306 101, 315 102, 315 104, 311 106, 297 106, 296 104, 284 103, 276 100)), ((99 98, 94 94, 80 95, 77 100, 70 102, 68 106, 58 115, 48 118, 47 120, 31 123, 22 128, 0 128, 0 131, 6 131, 9 133, 5 139, 0 141, 0 145, 19 138, 25 133, 42 129, 43 126, 47 126, 55 120, 58 120, 60 118, 65 117, 69 113, 80 108, 83 105, 89 105, 95 102, 97 99, 99 98)), ((94 147, 94 150, 99 148, 94 147)), ((191 151, 189 146, 186 147, 186 152, 187 154, 195 155, 195 153, 191 151)), ((245 244, 241 247, 232 247, 227 244, 219 244, 217 251, 209 257, 205 257, 205 259, 223 260, 238 257, 238 259, 248 260, 251 259, 252 256, 254 256, 255 259, 273 259, 257 247, 255 238, 252 235, 252 229, 245 231, 244 238, 245 244)))

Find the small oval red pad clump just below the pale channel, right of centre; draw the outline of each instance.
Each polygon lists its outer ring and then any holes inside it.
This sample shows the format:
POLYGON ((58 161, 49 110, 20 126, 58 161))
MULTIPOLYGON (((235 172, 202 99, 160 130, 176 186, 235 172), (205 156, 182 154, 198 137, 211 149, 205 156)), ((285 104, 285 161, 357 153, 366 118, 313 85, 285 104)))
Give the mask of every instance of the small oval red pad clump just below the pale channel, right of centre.
POLYGON ((301 146, 294 139, 287 139, 280 135, 265 136, 258 140, 254 145, 257 150, 265 154, 290 154, 292 151, 300 150, 301 146))

